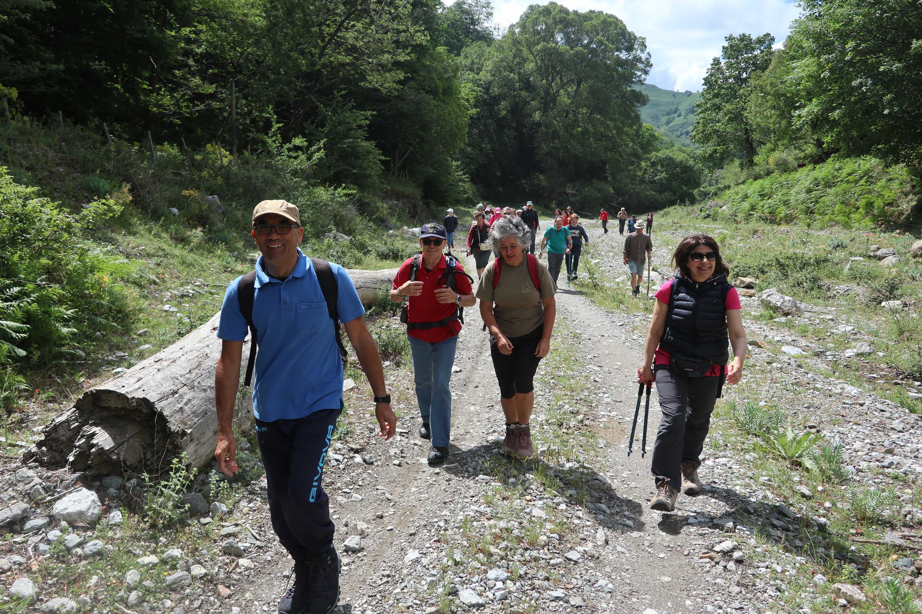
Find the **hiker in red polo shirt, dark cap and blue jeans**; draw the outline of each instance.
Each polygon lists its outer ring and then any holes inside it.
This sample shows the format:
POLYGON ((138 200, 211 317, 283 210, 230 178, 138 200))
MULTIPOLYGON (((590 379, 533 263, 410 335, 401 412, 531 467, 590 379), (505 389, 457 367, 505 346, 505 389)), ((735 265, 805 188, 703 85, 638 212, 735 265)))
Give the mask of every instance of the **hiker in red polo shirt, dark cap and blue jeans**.
POLYGON ((448 458, 452 426, 449 383, 461 331, 459 311, 477 303, 461 263, 442 253, 446 235, 440 224, 420 228, 422 254, 400 265, 390 294, 395 303, 409 297, 407 317, 402 319, 407 324, 413 353, 413 377, 422 418, 420 437, 431 440, 431 465, 440 465, 448 458))

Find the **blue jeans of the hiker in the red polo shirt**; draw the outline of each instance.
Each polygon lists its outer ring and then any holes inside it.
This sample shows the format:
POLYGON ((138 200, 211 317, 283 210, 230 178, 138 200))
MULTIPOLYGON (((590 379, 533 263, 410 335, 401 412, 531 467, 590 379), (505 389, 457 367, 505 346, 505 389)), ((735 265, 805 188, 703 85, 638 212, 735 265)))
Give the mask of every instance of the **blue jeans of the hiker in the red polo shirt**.
POLYGON ((420 418, 429 423, 432 446, 448 446, 452 430, 452 367, 458 338, 440 343, 422 342, 408 337, 413 353, 413 378, 420 418))

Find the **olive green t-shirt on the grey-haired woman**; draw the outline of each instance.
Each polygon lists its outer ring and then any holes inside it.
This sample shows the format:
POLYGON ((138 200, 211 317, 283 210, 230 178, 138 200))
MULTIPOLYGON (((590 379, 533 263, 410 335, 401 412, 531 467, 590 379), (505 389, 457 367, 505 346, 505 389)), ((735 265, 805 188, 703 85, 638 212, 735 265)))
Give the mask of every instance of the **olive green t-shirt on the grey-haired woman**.
MULTIPOLYGON (((502 256, 501 256, 502 258, 502 256)), ((477 286, 477 297, 494 303, 493 317, 506 337, 521 337, 538 328, 544 321, 542 300, 554 295, 554 280, 548 272, 548 265, 538 261, 538 279, 541 292, 528 274, 528 263, 523 258, 517 266, 502 262, 500 283, 493 290, 493 266, 488 266, 477 286)))

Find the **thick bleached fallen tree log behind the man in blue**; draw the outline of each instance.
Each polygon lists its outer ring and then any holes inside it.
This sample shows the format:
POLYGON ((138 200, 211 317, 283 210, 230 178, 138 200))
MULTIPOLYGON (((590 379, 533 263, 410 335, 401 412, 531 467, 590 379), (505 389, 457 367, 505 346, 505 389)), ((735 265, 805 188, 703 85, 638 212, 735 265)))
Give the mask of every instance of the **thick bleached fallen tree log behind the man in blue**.
MULTIPOLYGON (((349 277, 368 306, 378 292, 390 289, 395 273, 396 269, 353 270, 349 277)), ((219 315, 122 375, 84 392, 73 408, 45 427, 41 441, 26 450, 23 459, 45 466, 66 464, 90 476, 128 471, 159 475, 183 453, 190 466, 206 465, 218 442, 214 377, 221 348, 215 336, 219 315)), ((249 345, 247 339, 244 362, 249 345)), ((234 423, 242 430, 253 423, 251 395, 242 385, 234 423)))

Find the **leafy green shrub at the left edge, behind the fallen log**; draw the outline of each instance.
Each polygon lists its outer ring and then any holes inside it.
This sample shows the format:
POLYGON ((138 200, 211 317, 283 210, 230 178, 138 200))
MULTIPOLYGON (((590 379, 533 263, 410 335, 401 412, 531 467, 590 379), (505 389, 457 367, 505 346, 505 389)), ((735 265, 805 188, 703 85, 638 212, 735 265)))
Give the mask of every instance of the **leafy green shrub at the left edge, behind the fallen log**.
POLYGON ((127 307, 80 236, 121 211, 110 199, 68 214, 0 167, 0 345, 15 361, 49 365, 124 323, 127 307))

